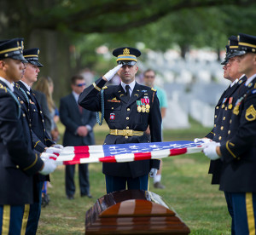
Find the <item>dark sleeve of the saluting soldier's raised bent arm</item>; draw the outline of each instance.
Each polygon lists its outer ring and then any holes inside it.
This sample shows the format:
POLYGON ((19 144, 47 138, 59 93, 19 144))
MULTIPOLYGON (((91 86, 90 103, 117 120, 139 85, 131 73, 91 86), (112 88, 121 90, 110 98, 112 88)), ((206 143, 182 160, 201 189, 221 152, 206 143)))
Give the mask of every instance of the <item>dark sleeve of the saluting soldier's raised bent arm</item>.
POLYGON ((107 82, 101 78, 92 83, 79 96, 79 105, 90 111, 101 112, 101 95, 100 91, 107 82))

